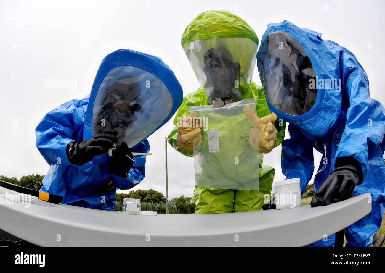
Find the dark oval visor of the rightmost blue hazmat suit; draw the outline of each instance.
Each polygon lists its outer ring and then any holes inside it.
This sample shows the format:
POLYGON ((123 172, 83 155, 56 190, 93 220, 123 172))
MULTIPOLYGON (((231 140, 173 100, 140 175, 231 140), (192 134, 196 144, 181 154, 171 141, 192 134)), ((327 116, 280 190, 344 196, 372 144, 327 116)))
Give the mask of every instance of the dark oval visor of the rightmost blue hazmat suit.
POLYGON ((261 45, 259 76, 266 99, 278 110, 298 116, 317 98, 315 71, 303 47, 285 32, 270 33, 261 45))

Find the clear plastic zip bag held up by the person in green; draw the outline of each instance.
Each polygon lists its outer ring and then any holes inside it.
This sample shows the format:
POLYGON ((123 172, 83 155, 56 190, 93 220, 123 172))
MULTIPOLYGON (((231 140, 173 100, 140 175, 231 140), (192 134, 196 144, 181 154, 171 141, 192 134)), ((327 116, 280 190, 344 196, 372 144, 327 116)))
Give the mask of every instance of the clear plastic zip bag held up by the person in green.
POLYGON ((207 188, 258 190, 259 151, 249 142, 251 125, 243 112, 255 100, 241 100, 220 108, 189 107, 203 124, 202 141, 194 138, 195 185, 207 188))

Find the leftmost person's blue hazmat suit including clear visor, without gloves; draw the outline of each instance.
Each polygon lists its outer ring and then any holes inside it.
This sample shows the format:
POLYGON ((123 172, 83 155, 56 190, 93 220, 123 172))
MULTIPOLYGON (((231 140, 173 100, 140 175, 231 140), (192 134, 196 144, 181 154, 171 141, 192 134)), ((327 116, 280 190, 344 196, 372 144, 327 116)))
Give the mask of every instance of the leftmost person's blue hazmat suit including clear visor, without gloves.
MULTIPOLYGON (((40 191, 63 196, 64 204, 114 211, 115 191, 130 189, 143 180, 144 155, 134 157, 127 178, 109 173, 108 153, 80 166, 71 164, 67 158, 70 142, 87 140, 100 133, 98 111, 104 102, 116 99, 117 81, 120 85, 141 88, 137 92, 139 97, 135 98, 138 110, 124 127, 115 128, 120 130, 119 142, 126 141, 133 152, 147 153, 150 146, 146 138, 164 125, 182 103, 181 85, 160 58, 133 50, 110 53, 100 64, 90 95, 63 103, 37 125, 36 146, 50 165, 40 191)), ((109 118, 112 116, 105 116, 107 123, 109 118)))

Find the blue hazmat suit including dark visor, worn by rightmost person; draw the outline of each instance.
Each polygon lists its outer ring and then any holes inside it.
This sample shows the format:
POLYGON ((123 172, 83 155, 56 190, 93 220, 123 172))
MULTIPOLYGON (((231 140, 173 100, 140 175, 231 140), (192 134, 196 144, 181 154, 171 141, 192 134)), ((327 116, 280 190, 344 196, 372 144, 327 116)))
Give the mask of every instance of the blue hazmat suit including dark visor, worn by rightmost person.
MULTIPOLYGON (((303 194, 313 176, 313 148, 323 153, 316 191, 337 158, 357 160, 363 181, 353 195, 370 193, 372 211, 346 228, 346 246, 369 246, 384 213, 385 111, 369 97, 365 70, 346 48, 288 21, 267 26, 257 63, 271 112, 290 123, 290 138, 282 142, 283 174, 300 178, 303 194)), ((312 245, 333 246, 334 235, 312 245)))

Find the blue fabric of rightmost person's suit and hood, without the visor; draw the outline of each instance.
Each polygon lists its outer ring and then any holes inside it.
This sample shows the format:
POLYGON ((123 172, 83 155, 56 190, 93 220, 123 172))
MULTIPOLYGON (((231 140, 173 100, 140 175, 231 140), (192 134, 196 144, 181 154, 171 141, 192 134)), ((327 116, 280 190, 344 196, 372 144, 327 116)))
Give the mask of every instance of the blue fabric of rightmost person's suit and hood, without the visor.
MULTIPOLYGON (((313 147, 323 153, 314 179, 315 190, 335 169, 336 158, 353 156, 360 162, 364 179, 355 187, 354 195, 371 193, 372 212, 346 228, 345 236, 346 246, 368 246, 384 212, 385 110, 380 102, 369 98, 367 74, 352 52, 288 21, 269 24, 261 45, 275 31, 286 32, 301 44, 318 79, 341 79, 339 90, 318 89, 314 106, 303 115, 288 115, 268 102, 271 112, 290 123, 290 139, 282 143, 282 172, 286 178, 300 178, 303 193, 314 171, 313 147)), ((333 244, 334 235, 312 245, 333 244)))

